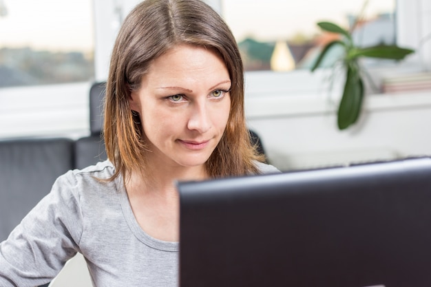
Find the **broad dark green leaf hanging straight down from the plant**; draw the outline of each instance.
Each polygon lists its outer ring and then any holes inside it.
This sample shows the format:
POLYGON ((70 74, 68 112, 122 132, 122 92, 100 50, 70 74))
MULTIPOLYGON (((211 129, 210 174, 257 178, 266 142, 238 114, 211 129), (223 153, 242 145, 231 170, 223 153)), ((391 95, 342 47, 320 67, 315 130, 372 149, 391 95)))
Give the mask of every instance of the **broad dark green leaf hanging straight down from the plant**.
POLYGON ((346 83, 338 108, 337 124, 339 129, 346 129, 356 123, 364 99, 364 83, 355 62, 347 66, 346 83))

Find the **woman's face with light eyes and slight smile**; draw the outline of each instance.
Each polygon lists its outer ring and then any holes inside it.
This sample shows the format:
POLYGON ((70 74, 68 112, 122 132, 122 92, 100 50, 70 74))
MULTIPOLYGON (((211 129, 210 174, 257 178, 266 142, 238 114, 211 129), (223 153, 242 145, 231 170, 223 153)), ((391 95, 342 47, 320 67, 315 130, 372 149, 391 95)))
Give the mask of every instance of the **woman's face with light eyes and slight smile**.
POLYGON ((230 89, 226 65, 204 47, 178 45, 154 60, 130 98, 151 151, 148 160, 202 166, 227 125, 230 89))

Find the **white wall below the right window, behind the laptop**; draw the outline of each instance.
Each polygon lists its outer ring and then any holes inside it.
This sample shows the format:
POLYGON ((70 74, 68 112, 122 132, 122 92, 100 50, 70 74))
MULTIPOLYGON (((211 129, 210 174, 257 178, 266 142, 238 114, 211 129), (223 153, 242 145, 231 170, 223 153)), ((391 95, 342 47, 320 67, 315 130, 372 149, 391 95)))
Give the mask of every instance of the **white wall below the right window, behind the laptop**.
POLYGON ((317 96, 249 97, 246 114, 282 170, 431 156, 431 91, 367 96, 359 122, 344 131, 335 106, 317 96))

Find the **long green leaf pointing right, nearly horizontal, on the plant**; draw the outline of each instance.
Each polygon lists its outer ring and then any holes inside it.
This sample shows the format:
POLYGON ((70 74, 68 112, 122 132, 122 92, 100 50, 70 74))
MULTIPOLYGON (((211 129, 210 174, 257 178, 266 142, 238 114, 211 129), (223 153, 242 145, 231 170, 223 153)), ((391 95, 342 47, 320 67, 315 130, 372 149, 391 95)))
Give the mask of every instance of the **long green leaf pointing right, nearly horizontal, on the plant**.
POLYGON ((380 59, 401 60, 414 50, 398 47, 397 45, 377 45, 373 47, 357 48, 350 52, 349 57, 366 56, 380 59))

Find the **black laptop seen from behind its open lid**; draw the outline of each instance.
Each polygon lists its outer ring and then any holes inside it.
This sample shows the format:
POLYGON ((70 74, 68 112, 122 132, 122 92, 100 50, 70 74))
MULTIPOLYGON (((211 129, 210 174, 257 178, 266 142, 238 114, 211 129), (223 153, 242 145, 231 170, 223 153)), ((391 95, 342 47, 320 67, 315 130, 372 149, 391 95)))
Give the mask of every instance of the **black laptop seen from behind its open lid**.
POLYGON ((431 159, 178 182, 180 286, 431 286, 431 159))

